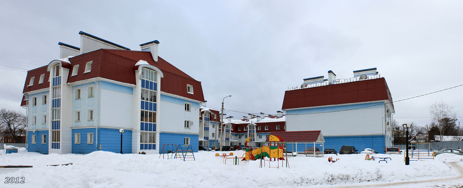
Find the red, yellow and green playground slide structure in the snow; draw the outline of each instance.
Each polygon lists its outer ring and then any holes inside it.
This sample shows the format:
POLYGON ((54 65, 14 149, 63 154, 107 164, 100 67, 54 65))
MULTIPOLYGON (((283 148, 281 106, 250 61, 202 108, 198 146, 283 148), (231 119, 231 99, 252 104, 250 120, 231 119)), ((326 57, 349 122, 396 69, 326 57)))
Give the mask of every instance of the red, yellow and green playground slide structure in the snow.
MULTIPOLYGON (((257 160, 258 158, 261 159, 260 167, 262 168, 262 165, 265 166, 265 157, 269 158, 269 168, 280 168, 279 163, 277 163, 278 166, 272 167, 270 166, 270 162, 272 161, 272 158, 274 161, 280 161, 282 160, 282 166, 283 166, 283 161, 285 160, 283 153, 286 153, 284 150, 284 143, 283 143, 282 137, 275 136, 275 135, 270 135, 269 136, 269 142, 263 142, 263 145, 268 144, 268 146, 262 146, 257 149, 252 149, 248 148, 248 142, 250 142, 250 138, 245 140, 245 145, 246 145, 246 153, 244 154, 245 157, 242 159, 242 161, 247 161, 247 160, 257 160), (262 162, 264 160, 264 163, 262 162)), ((288 163, 288 157, 286 157, 286 167, 289 168, 289 163, 288 163)))

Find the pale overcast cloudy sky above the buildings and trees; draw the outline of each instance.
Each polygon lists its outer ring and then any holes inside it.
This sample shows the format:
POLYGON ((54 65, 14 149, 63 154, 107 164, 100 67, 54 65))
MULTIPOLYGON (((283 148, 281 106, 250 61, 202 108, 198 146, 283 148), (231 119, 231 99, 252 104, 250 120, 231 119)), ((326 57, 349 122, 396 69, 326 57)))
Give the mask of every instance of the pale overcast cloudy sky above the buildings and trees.
MULTIPOLYGON (((6 68, 47 65, 59 57, 58 42, 80 46, 81 30, 133 50, 159 40, 159 56, 202 82, 209 107, 232 95, 226 109, 275 113, 304 78, 328 70, 349 78, 372 67, 396 101, 463 84, 462 9, 461 0, 1 0, 0 107, 25 112, 26 73, 6 68)), ((394 103, 394 117, 429 117, 440 100, 463 116, 462 93, 460 86, 394 103)))

